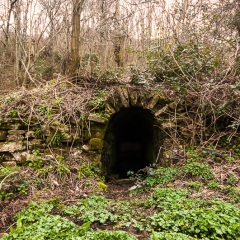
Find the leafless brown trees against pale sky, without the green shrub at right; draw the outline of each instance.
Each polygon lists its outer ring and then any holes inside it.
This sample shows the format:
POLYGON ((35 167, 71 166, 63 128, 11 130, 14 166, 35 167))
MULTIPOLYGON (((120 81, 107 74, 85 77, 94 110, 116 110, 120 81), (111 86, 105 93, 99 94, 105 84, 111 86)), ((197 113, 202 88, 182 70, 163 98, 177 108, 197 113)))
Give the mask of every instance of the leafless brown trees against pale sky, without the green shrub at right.
POLYGON ((173 58, 184 44, 216 55, 239 45, 239 0, 2 0, 0 8, 0 68, 17 85, 52 79, 54 72, 126 73, 129 66, 148 67, 153 52, 173 58))

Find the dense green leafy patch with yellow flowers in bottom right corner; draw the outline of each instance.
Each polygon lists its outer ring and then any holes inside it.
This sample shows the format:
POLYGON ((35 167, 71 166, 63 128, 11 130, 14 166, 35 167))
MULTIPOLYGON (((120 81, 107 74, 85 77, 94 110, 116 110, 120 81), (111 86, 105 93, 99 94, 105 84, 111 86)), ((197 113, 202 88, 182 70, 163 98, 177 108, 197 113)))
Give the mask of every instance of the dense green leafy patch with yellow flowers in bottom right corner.
POLYGON ((186 191, 177 189, 158 189, 152 197, 149 203, 159 202, 156 207, 160 211, 149 217, 149 229, 179 232, 200 239, 240 237, 240 210, 230 203, 191 199, 186 191))

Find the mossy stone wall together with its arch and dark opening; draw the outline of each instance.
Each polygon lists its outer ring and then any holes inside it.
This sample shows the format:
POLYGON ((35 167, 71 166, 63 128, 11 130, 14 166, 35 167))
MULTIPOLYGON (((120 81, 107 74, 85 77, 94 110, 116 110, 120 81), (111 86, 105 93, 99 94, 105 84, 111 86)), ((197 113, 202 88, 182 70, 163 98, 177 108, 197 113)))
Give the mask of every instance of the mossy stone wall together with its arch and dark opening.
POLYGON ((0 119, 0 164, 24 165, 41 156, 86 158, 101 166, 105 176, 126 177, 151 164, 170 161, 176 104, 164 93, 141 87, 117 86, 104 107, 85 112, 84 121, 26 124, 23 119, 0 119))

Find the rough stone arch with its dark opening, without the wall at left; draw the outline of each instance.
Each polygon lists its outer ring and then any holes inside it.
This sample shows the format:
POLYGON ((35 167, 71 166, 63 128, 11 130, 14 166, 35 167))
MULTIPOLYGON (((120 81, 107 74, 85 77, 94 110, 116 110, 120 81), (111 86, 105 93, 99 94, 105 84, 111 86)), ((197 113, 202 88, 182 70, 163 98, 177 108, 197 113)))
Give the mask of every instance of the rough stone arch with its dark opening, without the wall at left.
MULTIPOLYGON (((153 163, 164 164, 174 107, 164 93, 126 85, 111 89, 103 111, 107 119, 89 115, 90 121, 103 124, 100 159, 107 179, 124 178, 127 171, 137 172, 153 163)), ((91 133, 95 137, 93 128, 91 133)))

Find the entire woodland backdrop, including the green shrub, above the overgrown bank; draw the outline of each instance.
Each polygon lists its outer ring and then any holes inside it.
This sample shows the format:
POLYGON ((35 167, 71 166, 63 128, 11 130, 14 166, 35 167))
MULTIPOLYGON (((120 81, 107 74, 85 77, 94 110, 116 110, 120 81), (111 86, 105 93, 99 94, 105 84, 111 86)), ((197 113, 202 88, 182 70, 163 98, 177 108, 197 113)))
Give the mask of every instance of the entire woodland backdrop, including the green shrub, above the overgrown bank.
POLYGON ((1 0, 0 87, 238 80, 238 0, 1 0), (81 76, 81 77, 80 77, 81 76))

